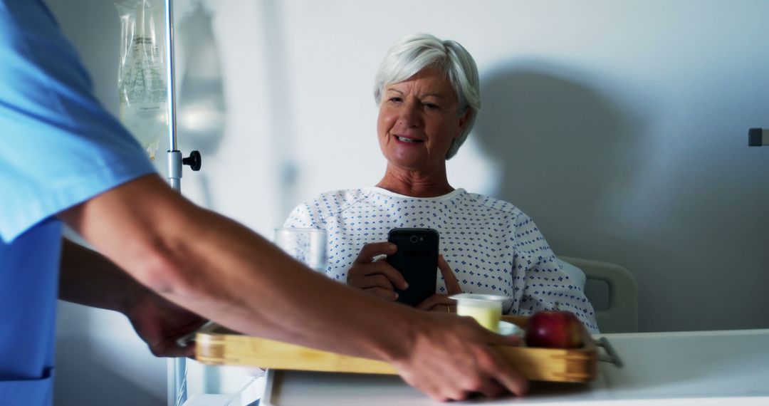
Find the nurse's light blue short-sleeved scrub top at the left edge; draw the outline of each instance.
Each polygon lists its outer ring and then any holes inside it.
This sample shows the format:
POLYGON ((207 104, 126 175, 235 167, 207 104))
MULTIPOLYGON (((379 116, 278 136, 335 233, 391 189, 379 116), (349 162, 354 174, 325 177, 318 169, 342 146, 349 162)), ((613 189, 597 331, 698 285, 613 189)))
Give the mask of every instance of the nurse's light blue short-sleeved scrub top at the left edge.
POLYGON ((48 8, 0 0, 0 404, 52 404, 55 215, 154 171, 48 8))

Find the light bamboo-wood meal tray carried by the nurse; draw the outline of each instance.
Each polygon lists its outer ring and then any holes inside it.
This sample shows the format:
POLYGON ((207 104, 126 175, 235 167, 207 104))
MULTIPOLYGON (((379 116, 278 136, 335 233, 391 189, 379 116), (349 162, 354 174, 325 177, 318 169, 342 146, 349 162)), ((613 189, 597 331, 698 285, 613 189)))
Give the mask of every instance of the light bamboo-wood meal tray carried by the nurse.
MULTIPOLYGON (((526 328, 528 318, 503 316, 526 328)), ((587 382, 596 375, 598 348, 583 329, 584 346, 574 349, 496 347, 502 358, 531 381, 587 382)), ((195 335, 195 359, 210 365, 241 365, 263 369, 396 374, 384 361, 318 351, 281 341, 251 337, 212 326, 195 335)))

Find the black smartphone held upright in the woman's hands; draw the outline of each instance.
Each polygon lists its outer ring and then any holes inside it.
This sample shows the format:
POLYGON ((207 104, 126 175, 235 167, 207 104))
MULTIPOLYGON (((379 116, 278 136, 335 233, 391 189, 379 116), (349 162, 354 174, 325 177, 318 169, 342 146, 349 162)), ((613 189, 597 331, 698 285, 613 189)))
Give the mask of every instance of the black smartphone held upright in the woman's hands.
POLYGON ((438 231, 432 228, 393 228, 388 241, 398 251, 387 256, 387 262, 403 275, 408 288, 398 292, 396 301, 415 307, 435 294, 438 278, 438 231))

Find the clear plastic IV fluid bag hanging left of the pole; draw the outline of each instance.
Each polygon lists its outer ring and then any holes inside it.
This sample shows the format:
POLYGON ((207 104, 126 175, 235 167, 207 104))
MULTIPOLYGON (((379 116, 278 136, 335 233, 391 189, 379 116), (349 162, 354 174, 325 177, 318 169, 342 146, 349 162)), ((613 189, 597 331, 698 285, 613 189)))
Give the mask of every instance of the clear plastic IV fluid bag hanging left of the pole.
POLYGON ((120 120, 155 159, 168 131, 168 90, 161 45, 163 8, 149 0, 115 4, 121 23, 118 96, 120 120))

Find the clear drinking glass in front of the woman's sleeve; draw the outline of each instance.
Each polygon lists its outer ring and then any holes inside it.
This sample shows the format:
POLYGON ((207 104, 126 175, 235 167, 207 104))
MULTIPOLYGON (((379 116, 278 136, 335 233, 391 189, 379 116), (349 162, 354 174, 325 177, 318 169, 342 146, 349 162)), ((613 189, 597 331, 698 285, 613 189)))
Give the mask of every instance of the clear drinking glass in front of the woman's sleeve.
POLYGON ((275 228, 273 242, 315 271, 326 271, 326 231, 316 228, 275 228))

